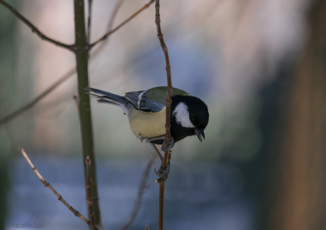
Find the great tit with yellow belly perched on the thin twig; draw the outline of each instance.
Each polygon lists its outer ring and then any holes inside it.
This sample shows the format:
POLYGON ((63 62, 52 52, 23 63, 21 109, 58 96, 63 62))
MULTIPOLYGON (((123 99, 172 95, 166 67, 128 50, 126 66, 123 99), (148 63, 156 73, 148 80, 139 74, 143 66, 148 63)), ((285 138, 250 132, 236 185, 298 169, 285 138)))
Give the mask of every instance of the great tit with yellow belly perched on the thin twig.
MULTIPOLYGON (((157 150, 155 144, 161 144, 163 151, 173 147, 174 142, 185 137, 197 135, 200 142, 205 139, 204 129, 208 124, 207 105, 198 97, 192 96, 183 90, 172 88, 171 104, 171 136, 173 143, 165 148, 165 116, 166 116, 166 95, 167 87, 159 86, 142 91, 126 93, 119 96, 94 88, 86 88, 97 98, 98 103, 120 106, 129 119, 132 132, 143 143, 150 143, 161 161, 163 157, 157 150)), ((159 177, 169 173, 160 169, 156 172, 159 177)))

